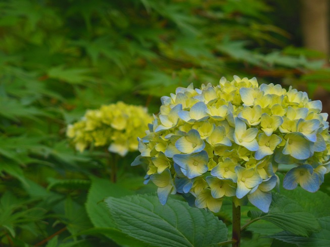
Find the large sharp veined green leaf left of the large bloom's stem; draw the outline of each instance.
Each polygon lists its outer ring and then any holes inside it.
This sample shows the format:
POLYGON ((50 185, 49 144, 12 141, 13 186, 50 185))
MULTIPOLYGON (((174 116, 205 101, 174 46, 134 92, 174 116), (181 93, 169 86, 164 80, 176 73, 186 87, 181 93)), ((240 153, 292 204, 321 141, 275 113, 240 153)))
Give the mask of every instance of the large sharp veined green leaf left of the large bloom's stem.
POLYGON ((124 233, 155 246, 206 246, 227 239, 227 228, 210 211, 154 195, 107 198, 112 217, 124 233))

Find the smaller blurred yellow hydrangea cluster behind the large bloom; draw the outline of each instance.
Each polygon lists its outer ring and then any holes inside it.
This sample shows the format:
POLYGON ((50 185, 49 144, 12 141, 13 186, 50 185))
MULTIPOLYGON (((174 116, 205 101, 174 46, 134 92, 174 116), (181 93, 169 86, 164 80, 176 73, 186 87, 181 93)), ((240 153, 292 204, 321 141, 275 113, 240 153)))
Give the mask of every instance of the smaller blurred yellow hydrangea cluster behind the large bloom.
POLYGON ((146 108, 117 102, 87 110, 80 121, 68 126, 67 136, 80 152, 90 146, 110 145, 110 152, 125 156, 137 150, 136 138, 145 135, 151 121, 146 108))

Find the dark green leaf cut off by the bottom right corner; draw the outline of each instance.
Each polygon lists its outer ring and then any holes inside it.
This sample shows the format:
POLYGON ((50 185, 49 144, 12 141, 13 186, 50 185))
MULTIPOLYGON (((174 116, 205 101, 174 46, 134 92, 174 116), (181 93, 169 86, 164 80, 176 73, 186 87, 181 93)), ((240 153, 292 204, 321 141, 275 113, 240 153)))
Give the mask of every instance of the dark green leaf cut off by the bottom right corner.
POLYGON ((319 222, 322 230, 312 233, 309 237, 297 236, 288 231, 282 231, 268 237, 294 243, 303 247, 328 247, 330 246, 330 216, 320 218, 319 222))

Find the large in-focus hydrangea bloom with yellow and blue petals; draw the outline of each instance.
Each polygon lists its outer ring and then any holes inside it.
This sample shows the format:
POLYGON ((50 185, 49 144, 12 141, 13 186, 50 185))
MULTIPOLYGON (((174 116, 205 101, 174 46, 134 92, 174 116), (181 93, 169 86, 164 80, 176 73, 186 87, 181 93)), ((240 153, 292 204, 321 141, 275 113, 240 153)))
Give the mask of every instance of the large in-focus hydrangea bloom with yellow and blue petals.
POLYGON ((146 182, 156 184, 162 204, 181 193, 213 212, 223 197, 268 212, 278 164, 288 167, 288 190, 299 183, 316 192, 329 171, 327 114, 305 92, 234 76, 179 87, 161 102, 132 165, 148 165, 146 182))

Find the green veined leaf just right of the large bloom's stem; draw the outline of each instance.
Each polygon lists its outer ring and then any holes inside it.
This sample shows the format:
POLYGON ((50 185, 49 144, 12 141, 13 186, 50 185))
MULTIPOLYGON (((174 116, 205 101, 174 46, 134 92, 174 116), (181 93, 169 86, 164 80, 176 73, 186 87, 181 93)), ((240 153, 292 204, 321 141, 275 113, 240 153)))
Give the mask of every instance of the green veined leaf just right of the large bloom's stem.
POLYGON ((304 212, 295 201, 279 194, 273 194, 272 197, 269 213, 260 213, 257 216, 255 212, 250 212, 254 219, 267 220, 283 230, 301 236, 320 231, 320 225, 314 215, 304 212))

